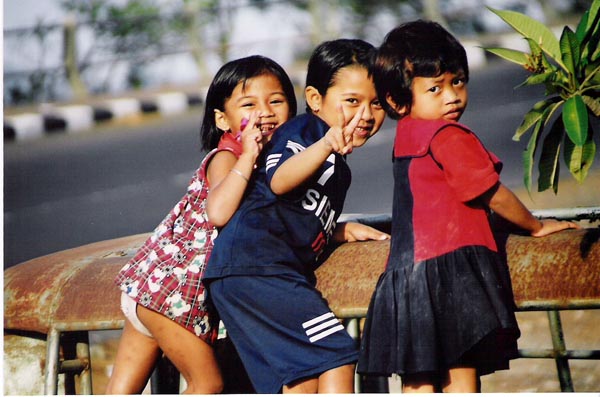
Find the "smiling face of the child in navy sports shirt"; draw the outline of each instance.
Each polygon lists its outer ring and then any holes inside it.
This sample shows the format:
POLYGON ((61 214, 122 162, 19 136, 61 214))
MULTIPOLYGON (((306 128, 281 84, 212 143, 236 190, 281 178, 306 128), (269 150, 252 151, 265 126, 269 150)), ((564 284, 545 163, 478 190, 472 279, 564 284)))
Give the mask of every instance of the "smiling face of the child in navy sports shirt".
POLYGON ((346 123, 361 106, 364 106, 363 115, 352 135, 353 147, 364 145, 377 133, 385 118, 385 111, 377 98, 373 80, 368 76, 367 69, 362 66, 341 68, 324 96, 316 89, 312 90, 312 93, 307 90, 307 101, 313 113, 330 126, 338 123, 337 107, 340 104, 346 123))

